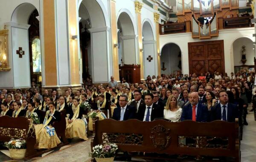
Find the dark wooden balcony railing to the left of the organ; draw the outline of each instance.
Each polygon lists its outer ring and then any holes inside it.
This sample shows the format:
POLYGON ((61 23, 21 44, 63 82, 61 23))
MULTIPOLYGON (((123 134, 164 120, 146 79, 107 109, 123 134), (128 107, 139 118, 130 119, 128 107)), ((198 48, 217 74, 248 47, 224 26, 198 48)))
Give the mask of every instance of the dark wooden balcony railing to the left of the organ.
POLYGON ((186 32, 186 23, 160 24, 160 35, 186 32))

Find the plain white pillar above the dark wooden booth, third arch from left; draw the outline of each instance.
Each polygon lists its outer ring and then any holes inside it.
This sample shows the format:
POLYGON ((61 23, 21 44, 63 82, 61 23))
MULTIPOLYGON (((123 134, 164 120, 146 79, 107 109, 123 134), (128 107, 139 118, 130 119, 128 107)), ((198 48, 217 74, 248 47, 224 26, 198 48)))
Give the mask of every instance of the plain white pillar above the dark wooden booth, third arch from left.
POLYGON ((137 49, 137 35, 121 36, 124 64, 137 64, 136 49, 137 49))

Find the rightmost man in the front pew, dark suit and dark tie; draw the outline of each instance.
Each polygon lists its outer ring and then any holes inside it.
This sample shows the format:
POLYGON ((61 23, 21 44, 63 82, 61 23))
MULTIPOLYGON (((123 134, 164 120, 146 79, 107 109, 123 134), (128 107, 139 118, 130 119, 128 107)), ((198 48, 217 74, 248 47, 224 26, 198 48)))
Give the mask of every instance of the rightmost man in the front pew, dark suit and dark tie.
POLYGON ((238 118, 238 109, 235 104, 228 103, 228 96, 226 91, 219 92, 220 103, 212 107, 210 113, 210 120, 223 120, 227 122, 235 122, 238 118))

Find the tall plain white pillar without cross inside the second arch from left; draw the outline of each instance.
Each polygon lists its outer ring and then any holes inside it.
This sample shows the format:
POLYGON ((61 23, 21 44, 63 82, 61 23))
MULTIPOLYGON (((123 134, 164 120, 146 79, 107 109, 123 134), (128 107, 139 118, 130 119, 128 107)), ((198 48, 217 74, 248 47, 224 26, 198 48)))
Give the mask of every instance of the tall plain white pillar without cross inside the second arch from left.
POLYGON ((91 54, 88 55, 93 83, 104 83, 110 80, 111 62, 109 48, 110 27, 88 29, 91 35, 91 54))

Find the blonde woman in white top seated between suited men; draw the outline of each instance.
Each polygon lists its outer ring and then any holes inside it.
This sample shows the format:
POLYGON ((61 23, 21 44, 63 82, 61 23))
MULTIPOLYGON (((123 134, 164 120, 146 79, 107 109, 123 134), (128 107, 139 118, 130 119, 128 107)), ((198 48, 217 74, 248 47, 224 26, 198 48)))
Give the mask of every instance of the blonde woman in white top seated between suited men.
POLYGON ((177 98, 174 95, 169 96, 163 110, 163 117, 172 122, 180 122, 181 112, 182 109, 178 106, 177 98))

